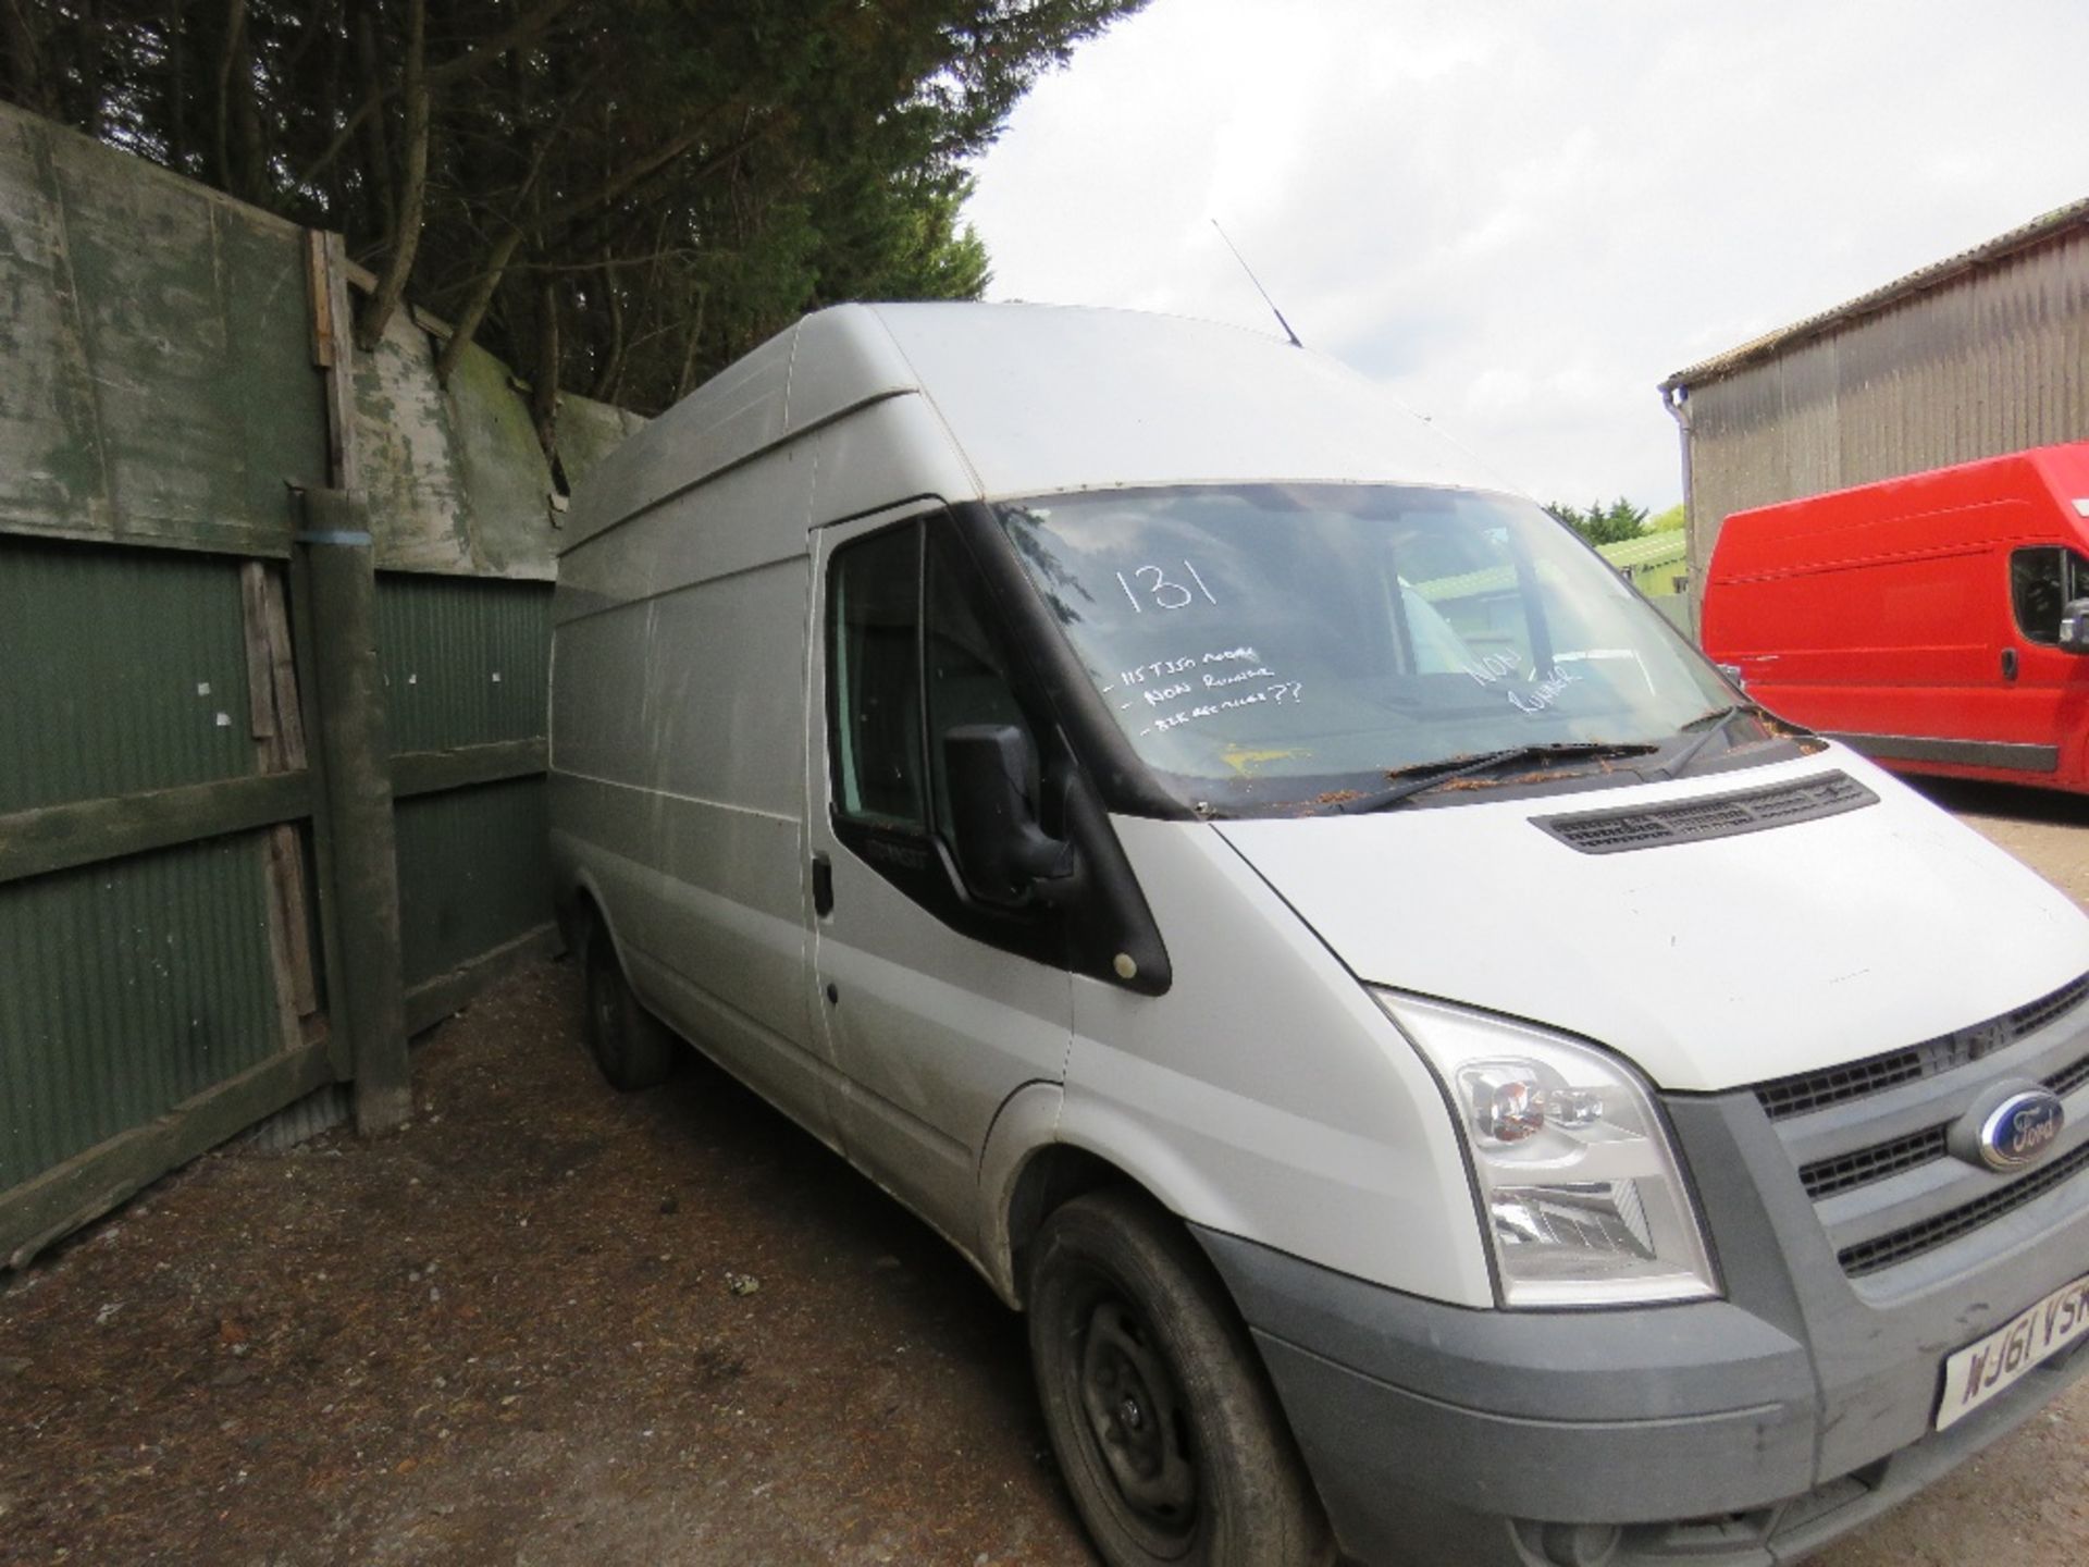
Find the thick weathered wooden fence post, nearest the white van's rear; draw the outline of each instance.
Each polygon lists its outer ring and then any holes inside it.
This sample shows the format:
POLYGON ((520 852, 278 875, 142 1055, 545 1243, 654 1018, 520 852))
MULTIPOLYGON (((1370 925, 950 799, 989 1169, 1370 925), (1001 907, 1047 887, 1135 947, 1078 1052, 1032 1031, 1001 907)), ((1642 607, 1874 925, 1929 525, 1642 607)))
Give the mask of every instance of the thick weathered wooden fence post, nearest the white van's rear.
POLYGON ((405 982, 399 957, 399 863, 393 838, 384 671, 378 664, 376 556, 359 495, 305 493, 297 577, 309 616, 320 817, 320 915, 328 928, 328 1011, 347 1032, 355 1128, 405 1124, 405 982))

